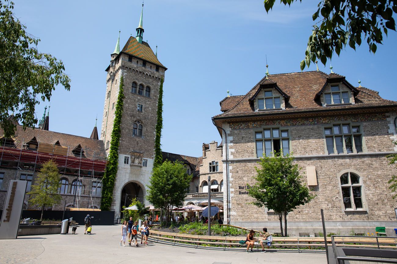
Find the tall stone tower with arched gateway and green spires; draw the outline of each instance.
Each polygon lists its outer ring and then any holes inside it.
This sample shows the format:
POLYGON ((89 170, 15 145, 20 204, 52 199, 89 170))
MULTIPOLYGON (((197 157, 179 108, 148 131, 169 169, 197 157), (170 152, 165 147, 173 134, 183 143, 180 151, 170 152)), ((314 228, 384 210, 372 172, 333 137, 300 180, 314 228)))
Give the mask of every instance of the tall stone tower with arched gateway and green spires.
POLYGON ((144 202, 152 173, 160 80, 167 70, 149 44, 143 41, 143 5, 136 36, 120 51, 119 38, 106 68, 106 93, 100 138, 109 154, 119 83, 123 76, 124 104, 121 117, 118 173, 111 210, 119 217, 131 199, 144 202))

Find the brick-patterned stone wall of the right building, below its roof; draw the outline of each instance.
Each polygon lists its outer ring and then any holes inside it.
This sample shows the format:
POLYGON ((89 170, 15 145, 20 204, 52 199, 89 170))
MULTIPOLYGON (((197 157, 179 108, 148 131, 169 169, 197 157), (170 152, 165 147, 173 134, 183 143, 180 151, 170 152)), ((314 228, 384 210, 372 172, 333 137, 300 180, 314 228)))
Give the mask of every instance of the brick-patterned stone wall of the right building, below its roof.
MULTIPOLYGON (((289 213, 290 221, 319 221, 320 209, 324 209, 327 220, 395 220, 395 200, 392 199, 394 193, 388 189, 387 184, 395 174, 395 166, 388 165, 385 157, 395 150, 391 139, 395 138, 396 131, 390 125, 394 117, 395 113, 385 113, 306 120, 224 123, 229 142, 231 221, 278 221, 278 215, 274 212, 249 204, 253 200, 248 196, 247 184, 254 184, 254 167, 258 166, 259 161, 256 158, 254 133, 264 127, 282 127, 289 130, 290 150, 296 157, 295 162, 302 167, 301 175, 306 184, 306 167, 316 167, 318 185, 310 186, 310 192, 315 194, 316 198, 289 213), (361 126, 363 153, 328 155, 324 127, 337 123, 361 126), (339 177, 347 171, 355 173, 362 180, 363 210, 345 211, 339 177)), ((226 142, 223 140, 225 152, 226 142)), ((225 181, 225 164, 223 176, 225 181)))

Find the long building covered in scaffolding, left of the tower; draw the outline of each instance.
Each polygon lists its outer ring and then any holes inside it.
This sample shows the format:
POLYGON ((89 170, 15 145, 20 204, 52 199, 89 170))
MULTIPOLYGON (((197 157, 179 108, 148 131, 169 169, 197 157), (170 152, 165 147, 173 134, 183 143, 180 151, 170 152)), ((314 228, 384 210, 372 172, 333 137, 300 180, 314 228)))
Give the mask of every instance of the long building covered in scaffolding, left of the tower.
MULTIPOLYGON (((14 137, 1 138, 0 208, 4 207, 10 180, 26 180, 26 192, 29 192, 42 164, 54 160, 61 174, 58 192, 62 201, 45 209, 63 210, 65 205, 99 209, 106 153, 103 142, 98 140, 96 126, 90 138, 57 133, 48 128, 49 117, 44 114, 39 127, 23 130, 17 124, 14 137)), ((3 134, 1 129, 0 134, 3 134)), ((23 208, 37 209, 29 204, 29 195, 25 195, 23 208)))

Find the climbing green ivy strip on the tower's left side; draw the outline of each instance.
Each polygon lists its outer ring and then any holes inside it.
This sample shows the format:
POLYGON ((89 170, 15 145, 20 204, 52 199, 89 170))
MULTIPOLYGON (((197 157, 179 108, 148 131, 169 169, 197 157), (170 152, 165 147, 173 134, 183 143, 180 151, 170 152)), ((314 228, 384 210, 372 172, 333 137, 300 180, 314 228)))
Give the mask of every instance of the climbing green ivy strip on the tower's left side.
POLYGON ((113 130, 110 137, 110 151, 108 156, 108 164, 102 178, 102 199, 100 207, 107 211, 110 209, 113 200, 114 181, 116 180, 117 167, 119 165, 119 146, 121 134, 121 116, 123 114, 124 104, 124 80, 123 76, 120 78, 119 95, 117 97, 116 110, 114 112, 113 130))

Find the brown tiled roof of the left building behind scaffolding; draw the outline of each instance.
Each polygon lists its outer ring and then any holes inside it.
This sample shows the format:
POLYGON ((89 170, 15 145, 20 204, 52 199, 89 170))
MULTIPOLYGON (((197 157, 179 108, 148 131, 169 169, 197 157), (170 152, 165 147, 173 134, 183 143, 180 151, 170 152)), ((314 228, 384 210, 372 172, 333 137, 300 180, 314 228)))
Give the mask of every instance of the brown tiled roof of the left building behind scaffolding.
MULTIPOLYGON (((3 135, 3 130, 1 128, 0 134, 3 135)), ((59 141, 61 146, 69 146, 68 156, 75 156, 72 150, 81 145, 86 158, 100 160, 104 160, 104 158, 106 158, 103 141, 89 139, 87 137, 74 136, 42 129, 33 129, 30 127, 27 127, 26 130, 23 131, 23 127, 17 125, 17 130, 15 131, 13 139, 14 141, 20 141, 16 148, 21 149, 22 142, 29 142, 34 137, 37 142, 55 144, 59 141)))

